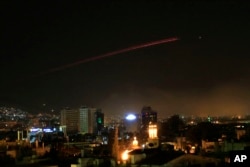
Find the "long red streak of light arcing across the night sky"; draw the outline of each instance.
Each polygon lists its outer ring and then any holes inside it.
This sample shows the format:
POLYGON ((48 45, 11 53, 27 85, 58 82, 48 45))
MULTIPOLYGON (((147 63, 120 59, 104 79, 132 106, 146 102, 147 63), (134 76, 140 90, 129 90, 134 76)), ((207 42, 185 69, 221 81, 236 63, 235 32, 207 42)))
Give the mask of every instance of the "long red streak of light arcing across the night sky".
POLYGON ((126 53, 126 52, 129 52, 129 51, 133 51, 133 50, 137 50, 137 49, 141 49, 141 48, 147 48, 147 47, 150 47, 150 46, 160 45, 160 44, 164 44, 164 43, 175 42, 175 41, 178 41, 178 40, 179 40, 179 38, 172 37, 172 38, 166 38, 166 39, 161 39, 161 40, 157 40, 157 41, 151 41, 151 42, 143 43, 143 44, 139 44, 139 45, 134 45, 134 46, 130 46, 128 48, 116 50, 116 51, 113 51, 113 52, 108 52, 108 53, 101 54, 101 55, 98 55, 98 56, 95 56, 95 57, 82 59, 82 60, 79 60, 79 61, 76 61, 76 62, 73 62, 73 63, 70 63, 70 64, 66 64, 66 65, 63 65, 63 66, 60 66, 60 67, 57 67, 57 68, 52 68, 52 69, 50 69, 50 70, 48 70, 46 72, 43 72, 41 74, 61 71, 61 70, 64 70, 66 68, 70 68, 70 67, 74 67, 74 66, 77 66, 77 65, 80 65, 80 64, 83 64, 83 63, 87 63, 87 62, 91 62, 91 61, 100 60, 100 59, 104 59, 104 58, 107 58, 107 57, 115 56, 115 55, 120 54, 120 53, 126 53))

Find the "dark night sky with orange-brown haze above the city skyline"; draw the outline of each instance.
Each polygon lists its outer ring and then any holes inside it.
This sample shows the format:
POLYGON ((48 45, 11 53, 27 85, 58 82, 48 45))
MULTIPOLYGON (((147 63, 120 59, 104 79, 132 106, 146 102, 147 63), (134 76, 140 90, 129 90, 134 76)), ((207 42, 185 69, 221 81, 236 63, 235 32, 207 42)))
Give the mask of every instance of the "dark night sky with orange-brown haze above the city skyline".
POLYGON ((107 115, 250 114, 250 6, 239 1, 1 2, 0 104, 107 115), (151 41, 142 48, 49 72, 151 41))

